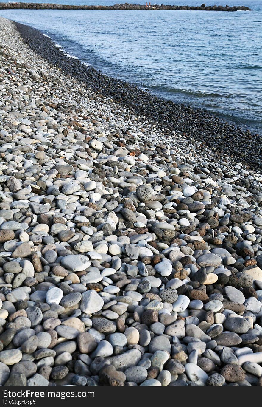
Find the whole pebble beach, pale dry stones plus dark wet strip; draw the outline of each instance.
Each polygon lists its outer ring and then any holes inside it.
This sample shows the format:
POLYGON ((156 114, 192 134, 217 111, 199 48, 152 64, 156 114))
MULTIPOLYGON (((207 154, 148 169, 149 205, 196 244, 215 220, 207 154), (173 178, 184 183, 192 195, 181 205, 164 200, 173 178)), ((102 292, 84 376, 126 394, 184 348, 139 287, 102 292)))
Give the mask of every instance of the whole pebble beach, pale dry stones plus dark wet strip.
POLYGON ((261 386, 260 136, 0 24, 0 385, 261 386))

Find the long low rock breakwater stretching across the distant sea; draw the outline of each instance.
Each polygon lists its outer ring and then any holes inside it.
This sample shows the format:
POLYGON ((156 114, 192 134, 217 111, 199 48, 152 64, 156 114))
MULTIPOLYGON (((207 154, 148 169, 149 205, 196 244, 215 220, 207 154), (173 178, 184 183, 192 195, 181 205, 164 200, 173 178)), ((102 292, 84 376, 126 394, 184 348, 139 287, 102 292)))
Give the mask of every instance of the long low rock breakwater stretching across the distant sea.
POLYGON ((7 2, 0 3, 0 10, 4 9, 35 9, 35 10, 201 10, 201 11, 251 11, 246 6, 206 6, 202 4, 199 7, 195 6, 173 6, 165 4, 152 4, 147 7, 145 4, 114 4, 113 6, 95 6, 95 5, 70 5, 70 4, 52 4, 52 3, 23 3, 23 2, 7 2))

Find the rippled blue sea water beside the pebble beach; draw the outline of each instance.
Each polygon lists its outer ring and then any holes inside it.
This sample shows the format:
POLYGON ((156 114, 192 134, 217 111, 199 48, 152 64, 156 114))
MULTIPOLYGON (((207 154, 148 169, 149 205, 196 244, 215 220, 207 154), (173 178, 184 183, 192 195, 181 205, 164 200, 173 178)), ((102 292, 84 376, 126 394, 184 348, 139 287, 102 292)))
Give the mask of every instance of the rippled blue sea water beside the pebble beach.
POLYGON ((105 74, 262 133, 262 0, 218 4, 252 11, 2 10, 0 15, 40 29, 66 53, 105 74))

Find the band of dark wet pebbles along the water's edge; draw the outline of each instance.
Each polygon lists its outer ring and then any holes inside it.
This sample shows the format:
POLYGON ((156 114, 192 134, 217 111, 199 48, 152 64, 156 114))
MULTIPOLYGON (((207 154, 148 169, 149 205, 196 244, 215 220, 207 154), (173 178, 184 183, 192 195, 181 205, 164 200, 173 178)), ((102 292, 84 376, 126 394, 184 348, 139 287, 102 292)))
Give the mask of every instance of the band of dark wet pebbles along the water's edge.
POLYGON ((97 95, 110 97, 151 123, 175 132, 189 140, 200 141, 218 154, 227 154, 255 171, 262 168, 262 136, 227 122, 204 109, 194 109, 147 93, 135 85, 106 76, 79 59, 65 55, 61 48, 36 28, 13 22, 24 42, 40 57, 61 71, 85 83, 97 95))

